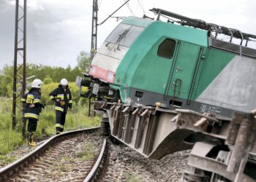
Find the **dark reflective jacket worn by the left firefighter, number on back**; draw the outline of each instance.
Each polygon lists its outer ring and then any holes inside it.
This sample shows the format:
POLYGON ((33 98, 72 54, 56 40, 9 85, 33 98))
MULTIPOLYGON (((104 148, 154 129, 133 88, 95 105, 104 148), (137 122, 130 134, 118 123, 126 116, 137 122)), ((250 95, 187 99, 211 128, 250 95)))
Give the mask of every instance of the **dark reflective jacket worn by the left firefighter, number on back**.
POLYGON ((32 88, 26 95, 23 95, 21 101, 25 103, 24 117, 25 119, 39 119, 39 114, 42 111, 41 94, 39 89, 32 88), (33 108, 29 106, 34 104, 33 108))

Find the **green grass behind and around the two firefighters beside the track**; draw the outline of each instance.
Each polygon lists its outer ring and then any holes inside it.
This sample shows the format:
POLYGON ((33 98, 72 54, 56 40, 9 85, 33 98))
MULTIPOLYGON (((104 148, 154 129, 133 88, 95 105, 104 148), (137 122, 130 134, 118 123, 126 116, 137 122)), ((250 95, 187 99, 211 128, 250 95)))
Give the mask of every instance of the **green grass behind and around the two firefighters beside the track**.
MULTIPOLYGON (((86 106, 78 106, 72 111, 68 111, 64 130, 99 126, 101 117, 90 118, 87 113, 86 106)), ((18 118, 21 118, 21 116, 21 113, 18 113, 18 118)), ((21 123, 18 123, 17 129, 12 130, 12 100, 10 98, 0 98, 0 159, 18 146, 26 143, 22 139, 20 126, 21 123)), ((55 133, 54 107, 47 106, 39 117, 37 131, 35 132, 36 140, 55 133)))

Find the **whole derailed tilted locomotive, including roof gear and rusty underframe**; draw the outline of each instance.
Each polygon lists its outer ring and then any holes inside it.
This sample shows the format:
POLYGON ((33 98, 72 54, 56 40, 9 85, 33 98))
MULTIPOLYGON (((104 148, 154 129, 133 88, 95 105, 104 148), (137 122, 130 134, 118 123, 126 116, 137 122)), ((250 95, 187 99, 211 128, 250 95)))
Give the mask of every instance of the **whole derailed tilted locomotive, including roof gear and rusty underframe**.
POLYGON ((192 149, 183 181, 256 181, 256 36, 151 11, 124 19, 77 79, 103 129, 152 159, 192 149))

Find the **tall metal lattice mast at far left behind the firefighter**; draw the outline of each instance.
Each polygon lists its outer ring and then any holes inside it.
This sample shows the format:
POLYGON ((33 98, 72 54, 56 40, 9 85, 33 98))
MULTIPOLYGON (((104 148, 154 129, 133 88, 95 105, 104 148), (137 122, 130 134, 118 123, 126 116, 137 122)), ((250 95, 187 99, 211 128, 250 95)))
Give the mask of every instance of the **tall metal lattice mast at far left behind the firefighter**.
MULTIPOLYGON (((23 111, 20 97, 26 92, 26 0, 16 0, 15 7, 15 52, 13 66, 12 129, 17 124, 16 108, 23 111), (17 88, 17 86, 19 87, 17 88)), ((23 137, 26 123, 23 118, 23 137)))

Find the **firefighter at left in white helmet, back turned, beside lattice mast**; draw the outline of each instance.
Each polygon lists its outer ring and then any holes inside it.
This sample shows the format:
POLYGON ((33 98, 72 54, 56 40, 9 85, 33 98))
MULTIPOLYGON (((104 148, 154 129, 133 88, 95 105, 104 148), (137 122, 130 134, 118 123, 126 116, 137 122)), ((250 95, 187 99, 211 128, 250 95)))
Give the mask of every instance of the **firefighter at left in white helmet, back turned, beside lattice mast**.
POLYGON ((34 141, 34 132, 37 130, 39 114, 45 106, 40 103, 41 87, 42 81, 40 79, 34 79, 31 84, 31 90, 21 98, 21 101, 25 103, 24 119, 29 121, 27 137, 29 146, 37 146, 37 143, 34 141))

